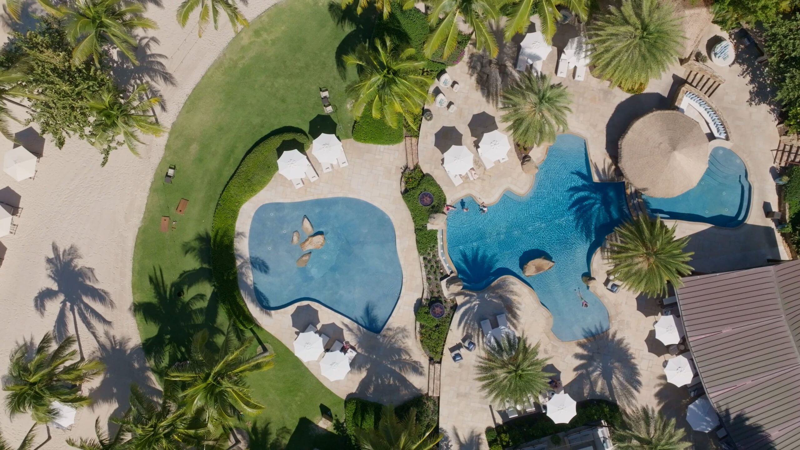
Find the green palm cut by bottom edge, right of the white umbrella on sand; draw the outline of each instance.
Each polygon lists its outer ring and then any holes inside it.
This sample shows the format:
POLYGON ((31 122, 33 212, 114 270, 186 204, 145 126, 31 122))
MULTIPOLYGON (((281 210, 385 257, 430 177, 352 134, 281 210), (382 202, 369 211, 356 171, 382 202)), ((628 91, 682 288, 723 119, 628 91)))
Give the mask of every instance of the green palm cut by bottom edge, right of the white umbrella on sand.
POLYGON ((195 423, 184 408, 178 407, 171 391, 165 388, 158 404, 135 384, 130 387, 130 408, 122 418, 112 419, 130 436, 126 449, 184 450, 184 444, 206 440, 205 425, 195 423))

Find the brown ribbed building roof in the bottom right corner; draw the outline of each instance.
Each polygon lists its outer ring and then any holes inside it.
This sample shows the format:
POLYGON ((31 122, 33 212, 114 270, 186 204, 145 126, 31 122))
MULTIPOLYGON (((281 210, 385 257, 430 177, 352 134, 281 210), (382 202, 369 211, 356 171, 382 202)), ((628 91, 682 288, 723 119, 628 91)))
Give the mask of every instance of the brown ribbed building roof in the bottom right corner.
POLYGON ((728 434, 742 449, 800 449, 800 261, 683 283, 686 337, 728 434))

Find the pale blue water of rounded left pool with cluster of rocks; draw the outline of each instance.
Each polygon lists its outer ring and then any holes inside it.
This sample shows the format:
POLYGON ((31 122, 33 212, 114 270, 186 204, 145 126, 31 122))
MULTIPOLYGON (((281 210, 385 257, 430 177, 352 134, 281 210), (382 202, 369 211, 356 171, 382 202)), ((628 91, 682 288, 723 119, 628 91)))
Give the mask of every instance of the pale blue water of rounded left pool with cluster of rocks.
POLYGON ((250 263, 258 303, 268 310, 312 300, 379 333, 398 302, 402 269, 394 225, 383 211, 359 199, 334 197, 266 203, 250 223, 250 263), (306 253, 291 244, 307 215, 325 245, 306 253))

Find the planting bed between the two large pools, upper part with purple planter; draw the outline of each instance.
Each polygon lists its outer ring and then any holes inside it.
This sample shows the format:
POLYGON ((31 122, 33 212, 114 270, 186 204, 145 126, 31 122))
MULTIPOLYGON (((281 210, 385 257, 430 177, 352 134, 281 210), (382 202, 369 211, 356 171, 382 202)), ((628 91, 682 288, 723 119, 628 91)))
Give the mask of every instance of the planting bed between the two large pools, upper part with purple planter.
POLYGON ((414 234, 417 235, 417 251, 420 255, 426 255, 430 251, 435 251, 437 247, 437 232, 436 230, 428 230, 428 216, 434 213, 440 213, 445 207, 445 193, 442 187, 436 183, 434 177, 428 174, 422 174, 422 169, 419 166, 414 167, 410 171, 406 171, 403 175, 404 178, 414 177, 418 179, 416 186, 406 183, 406 192, 403 193, 402 199, 406 202, 406 207, 411 213, 411 220, 414 221, 414 234), (428 191, 434 195, 434 203, 430 207, 423 207, 419 204, 419 195, 428 191))

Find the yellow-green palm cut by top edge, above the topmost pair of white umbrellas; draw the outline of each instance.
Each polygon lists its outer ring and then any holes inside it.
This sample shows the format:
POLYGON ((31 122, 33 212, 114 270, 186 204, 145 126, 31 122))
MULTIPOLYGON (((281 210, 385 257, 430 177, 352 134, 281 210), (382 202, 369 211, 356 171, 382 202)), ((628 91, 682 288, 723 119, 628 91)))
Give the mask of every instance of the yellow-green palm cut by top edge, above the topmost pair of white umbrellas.
POLYGON ((566 6, 578 18, 585 21, 589 14, 589 2, 586 0, 515 0, 511 1, 514 6, 506 18, 506 30, 504 31, 506 42, 514 37, 514 34, 525 33, 530 26, 530 16, 538 14, 539 22, 542 25, 542 34, 547 42, 550 42, 555 34, 555 24, 561 18, 558 6, 566 6))

